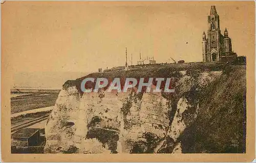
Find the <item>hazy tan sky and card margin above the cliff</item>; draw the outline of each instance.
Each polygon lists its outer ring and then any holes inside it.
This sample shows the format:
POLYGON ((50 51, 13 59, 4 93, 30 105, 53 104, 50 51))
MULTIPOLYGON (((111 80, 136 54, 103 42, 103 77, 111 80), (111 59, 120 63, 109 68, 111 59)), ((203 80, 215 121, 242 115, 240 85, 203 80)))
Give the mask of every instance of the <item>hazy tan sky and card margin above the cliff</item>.
POLYGON ((211 5, 233 51, 254 53, 254 2, 7 1, 2 4, 2 68, 12 74, 94 72, 124 66, 125 47, 129 65, 131 55, 137 63, 140 51, 157 63, 170 57, 202 61, 211 5))

